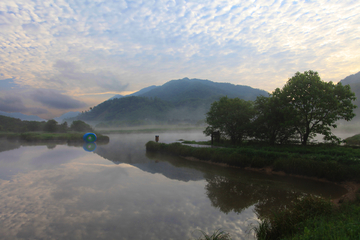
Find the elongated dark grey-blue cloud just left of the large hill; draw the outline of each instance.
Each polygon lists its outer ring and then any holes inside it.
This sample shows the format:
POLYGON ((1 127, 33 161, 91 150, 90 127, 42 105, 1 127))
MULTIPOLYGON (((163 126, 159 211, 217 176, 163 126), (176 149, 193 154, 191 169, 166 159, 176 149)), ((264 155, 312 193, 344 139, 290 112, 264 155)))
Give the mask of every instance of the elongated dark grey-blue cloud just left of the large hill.
POLYGON ((87 106, 86 103, 63 95, 59 91, 53 89, 36 89, 31 94, 31 97, 34 101, 39 102, 46 107, 56 109, 77 109, 87 106))

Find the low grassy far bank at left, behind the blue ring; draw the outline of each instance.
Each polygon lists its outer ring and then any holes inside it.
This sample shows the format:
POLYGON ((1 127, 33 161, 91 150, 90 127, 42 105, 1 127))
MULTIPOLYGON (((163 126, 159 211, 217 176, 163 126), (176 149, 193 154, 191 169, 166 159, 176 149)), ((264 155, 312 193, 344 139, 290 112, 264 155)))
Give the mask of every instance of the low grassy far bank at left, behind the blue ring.
MULTIPOLYGON (((6 137, 9 140, 23 140, 23 141, 71 141, 83 142, 82 132, 69 132, 69 133, 48 133, 48 132, 25 132, 25 133, 1 133, 0 137, 6 137)), ((102 134, 96 134, 96 142, 109 142, 109 137, 102 134)))

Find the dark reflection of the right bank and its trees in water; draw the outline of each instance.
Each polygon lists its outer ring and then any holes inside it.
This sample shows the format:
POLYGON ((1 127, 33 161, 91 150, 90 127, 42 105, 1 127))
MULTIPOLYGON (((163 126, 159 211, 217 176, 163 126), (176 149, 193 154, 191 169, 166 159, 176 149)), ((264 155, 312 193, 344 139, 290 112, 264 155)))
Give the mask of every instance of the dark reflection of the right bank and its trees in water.
POLYGON ((201 172, 206 180, 206 195, 211 205, 224 213, 241 213, 254 206, 260 217, 273 209, 288 205, 296 198, 307 194, 324 198, 338 198, 346 190, 335 184, 281 177, 242 169, 224 168, 202 162, 193 162, 175 156, 147 153, 147 157, 159 162, 168 162, 179 169, 201 172))

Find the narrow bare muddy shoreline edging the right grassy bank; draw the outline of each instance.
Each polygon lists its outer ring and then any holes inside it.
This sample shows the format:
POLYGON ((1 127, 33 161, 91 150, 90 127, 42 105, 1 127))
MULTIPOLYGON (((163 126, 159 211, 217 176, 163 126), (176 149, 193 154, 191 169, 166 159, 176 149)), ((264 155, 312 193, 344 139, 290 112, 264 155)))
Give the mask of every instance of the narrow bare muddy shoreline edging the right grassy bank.
POLYGON ((333 181, 329 181, 329 180, 324 179, 324 178, 308 177, 308 176, 303 176, 303 175, 298 175, 298 174, 290 174, 290 173, 285 173, 283 171, 274 171, 272 167, 265 167, 265 168, 245 167, 245 168, 241 168, 241 167, 231 166, 231 165, 225 164, 225 163, 216 163, 216 162, 212 162, 212 161, 200 160, 200 159, 197 159, 195 157, 184 157, 184 156, 180 156, 180 157, 184 158, 186 160, 189 160, 189 161, 203 162, 203 163, 212 164, 212 165, 218 165, 218 166, 222 166, 222 167, 244 169, 246 171, 260 172, 260 173, 265 173, 265 174, 268 174, 268 175, 290 176, 290 177, 309 179, 309 180, 314 180, 314 181, 319 181, 319 182, 332 183, 332 184, 338 185, 340 187, 343 187, 343 188, 345 188, 347 190, 347 193, 343 194, 342 196, 340 196, 338 198, 331 199, 331 202, 334 203, 337 206, 339 206, 343 202, 354 201, 356 199, 357 192, 360 190, 360 183, 355 182, 355 181, 333 182, 333 181))

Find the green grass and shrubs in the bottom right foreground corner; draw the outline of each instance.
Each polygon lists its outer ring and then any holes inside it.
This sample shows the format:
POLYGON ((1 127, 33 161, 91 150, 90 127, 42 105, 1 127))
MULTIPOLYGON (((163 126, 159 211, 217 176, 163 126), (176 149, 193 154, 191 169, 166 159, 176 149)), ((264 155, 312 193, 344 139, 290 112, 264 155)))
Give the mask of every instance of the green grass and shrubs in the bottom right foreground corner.
POLYGON ((254 230, 259 240, 360 239, 360 198, 337 207, 306 197, 262 219, 254 230))

